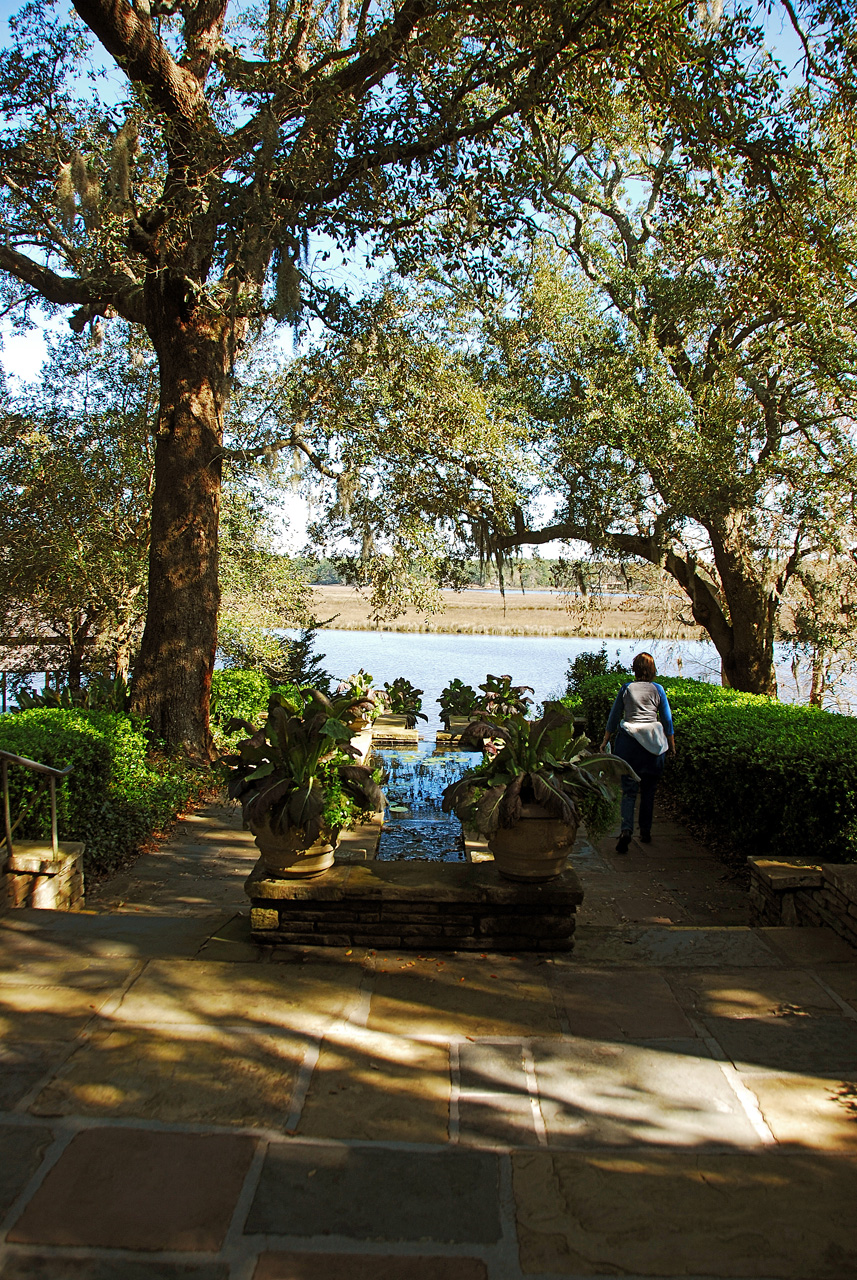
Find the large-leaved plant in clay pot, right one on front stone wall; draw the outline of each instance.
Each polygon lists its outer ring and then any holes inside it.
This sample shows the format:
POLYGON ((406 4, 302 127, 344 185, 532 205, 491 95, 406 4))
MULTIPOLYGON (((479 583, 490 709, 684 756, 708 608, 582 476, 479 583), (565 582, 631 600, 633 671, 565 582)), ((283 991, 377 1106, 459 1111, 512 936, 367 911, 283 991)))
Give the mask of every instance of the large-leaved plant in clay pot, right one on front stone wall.
POLYGON ((468 732, 498 745, 496 754, 446 787, 443 808, 487 837, 508 879, 559 876, 581 820, 591 835, 605 831, 619 778, 633 772, 615 755, 590 753, 588 739, 574 737, 565 708, 537 721, 515 713, 503 724, 484 722, 468 732))

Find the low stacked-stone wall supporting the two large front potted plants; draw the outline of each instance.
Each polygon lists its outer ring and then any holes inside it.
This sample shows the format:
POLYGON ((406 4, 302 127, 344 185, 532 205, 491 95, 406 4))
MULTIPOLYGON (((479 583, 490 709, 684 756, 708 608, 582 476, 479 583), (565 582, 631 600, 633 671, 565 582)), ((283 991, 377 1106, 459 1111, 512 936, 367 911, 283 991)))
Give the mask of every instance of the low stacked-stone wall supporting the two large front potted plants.
POLYGON ((315 882, 267 879, 244 890, 256 942, 399 951, 570 951, 581 882, 513 884, 491 863, 336 864, 315 882))

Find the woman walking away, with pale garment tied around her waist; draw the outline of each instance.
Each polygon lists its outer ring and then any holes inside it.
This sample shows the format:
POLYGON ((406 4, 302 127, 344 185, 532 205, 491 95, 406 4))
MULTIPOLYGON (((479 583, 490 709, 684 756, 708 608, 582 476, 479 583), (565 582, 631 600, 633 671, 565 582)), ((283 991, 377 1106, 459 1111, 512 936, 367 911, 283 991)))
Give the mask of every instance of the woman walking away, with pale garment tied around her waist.
POLYGON ((651 840, 655 787, 664 772, 666 755, 675 754, 673 716, 661 685, 655 684, 657 668, 650 653, 638 653, 631 663, 633 681, 623 685, 610 708, 601 750, 617 733, 613 754, 627 760, 638 780, 622 777, 622 832, 617 852, 627 854, 634 829, 634 805, 640 794, 640 838, 651 840), (617 732, 618 730, 618 732, 617 732))

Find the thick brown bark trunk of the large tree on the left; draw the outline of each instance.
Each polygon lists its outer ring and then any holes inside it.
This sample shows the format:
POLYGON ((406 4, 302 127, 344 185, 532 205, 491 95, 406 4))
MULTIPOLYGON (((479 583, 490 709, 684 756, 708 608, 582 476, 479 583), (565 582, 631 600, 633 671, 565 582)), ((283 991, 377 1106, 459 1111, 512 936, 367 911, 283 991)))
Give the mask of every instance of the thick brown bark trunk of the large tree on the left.
POLYGON ((168 750, 184 748, 197 760, 210 759, 230 325, 197 306, 175 276, 150 276, 146 310, 159 357, 160 406, 148 609, 132 707, 168 750))

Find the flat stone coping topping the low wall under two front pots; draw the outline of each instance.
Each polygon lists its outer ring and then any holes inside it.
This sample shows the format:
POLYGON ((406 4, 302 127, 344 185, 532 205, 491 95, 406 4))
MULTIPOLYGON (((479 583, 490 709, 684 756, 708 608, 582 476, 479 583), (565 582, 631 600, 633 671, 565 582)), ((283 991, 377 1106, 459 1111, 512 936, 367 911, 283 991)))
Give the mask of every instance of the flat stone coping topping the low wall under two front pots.
POLYGON ((251 900, 348 902, 377 899, 492 906, 549 905, 572 910, 583 901, 576 872, 567 869, 553 881, 524 884, 503 879, 492 863, 339 863, 315 879, 271 879, 261 861, 246 886, 251 900))

